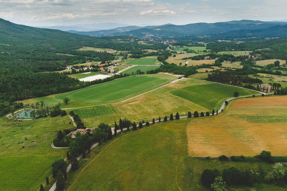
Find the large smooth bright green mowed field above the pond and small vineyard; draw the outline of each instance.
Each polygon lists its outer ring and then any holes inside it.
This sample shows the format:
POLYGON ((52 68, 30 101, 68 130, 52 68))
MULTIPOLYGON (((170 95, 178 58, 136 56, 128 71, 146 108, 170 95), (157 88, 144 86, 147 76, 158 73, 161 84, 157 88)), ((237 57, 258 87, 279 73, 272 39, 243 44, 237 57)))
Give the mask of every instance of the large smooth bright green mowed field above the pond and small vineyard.
POLYGON ((23 103, 35 103, 43 100, 50 106, 62 103, 61 108, 74 108, 123 101, 168 83, 167 79, 156 77, 156 75, 153 76, 153 78, 150 75, 120 78, 63 94, 25 100, 23 103), (71 100, 68 105, 63 104, 65 97, 71 100))

